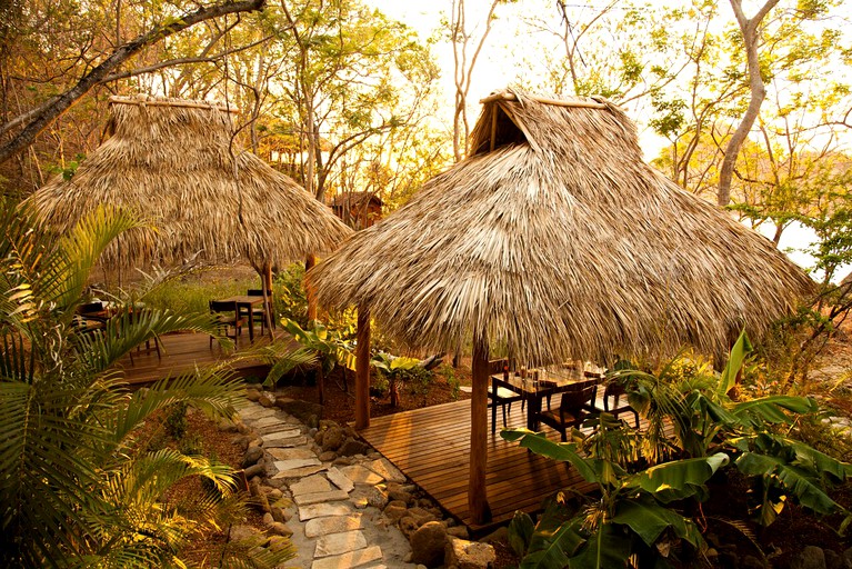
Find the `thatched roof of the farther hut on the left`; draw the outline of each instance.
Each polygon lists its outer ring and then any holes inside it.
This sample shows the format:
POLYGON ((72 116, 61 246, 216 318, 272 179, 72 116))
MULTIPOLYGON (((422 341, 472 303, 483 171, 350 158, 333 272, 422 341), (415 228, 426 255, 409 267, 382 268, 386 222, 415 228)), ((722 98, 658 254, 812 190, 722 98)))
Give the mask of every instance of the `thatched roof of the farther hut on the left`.
POLYGON ((257 268, 330 251, 351 230, 260 158, 233 148, 225 108, 156 98, 112 99, 114 134, 70 180, 31 198, 62 231, 99 204, 132 208, 156 228, 122 236, 108 264, 209 262, 257 268))

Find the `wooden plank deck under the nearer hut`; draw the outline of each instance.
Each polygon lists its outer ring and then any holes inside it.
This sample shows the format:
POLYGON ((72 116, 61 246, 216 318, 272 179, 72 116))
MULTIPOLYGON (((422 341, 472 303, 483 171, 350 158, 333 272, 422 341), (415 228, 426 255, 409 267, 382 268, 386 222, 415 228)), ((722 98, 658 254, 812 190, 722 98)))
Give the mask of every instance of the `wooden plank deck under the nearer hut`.
MULTIPOLYGON (((489 415, 489 429, 490 421, 489 415)), ((512 405, 509 427, 524 426, 520 403, 512 405)), ((515 510, 539 511, 542 500, 562 488, 574 487, 581 492, 593 489, 568 463, 504 441, 500 427, 498 413, 497 435, 489 430, 485 477, 493 520, 485 526, 474 525, 468 509, 470 400, 373 418, 360 435, 474 535, 509 521, 515 510)), ((559 440, 558 432, 543 429, 559 440)))

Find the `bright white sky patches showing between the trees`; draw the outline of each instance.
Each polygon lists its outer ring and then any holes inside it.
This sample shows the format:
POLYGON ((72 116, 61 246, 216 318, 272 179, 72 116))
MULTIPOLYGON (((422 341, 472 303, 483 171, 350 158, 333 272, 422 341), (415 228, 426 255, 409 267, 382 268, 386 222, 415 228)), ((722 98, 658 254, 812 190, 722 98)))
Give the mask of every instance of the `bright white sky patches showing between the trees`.
MULTIPOLYGON (((441 18, 449 16, 452 6, 451 0, 424 2, 417 0, 364 0, 364 2, 375 6, 388 17, 404 22, 424 40, 439 29, 441 18)), ((726 4, 726 2, 723 3, 726 4)), ((477 31, 481 30, 490 1, 465 0, 465 4, 469 10, 469 27, 475 22, 479 24, 477 31)), ((585 3, 578 1, 573 6, 583 9, 585 3)), ((589 9, 595 10, 594 6, 589 6, 589 9)), ((726 9, 730 11, 730 7, 726 9)), ((535 50, 548 49, 548 47, 541 43, 543 34, 533 38, 529 34, 519 34, 518 32, 518 20, 523 18, 525 13, 530 13, 531 10, 538 10, 540 14, 547 14, 549 11, 552 12, 554 27, 557 27, 559 17, 552 0, 519 0, 513 4, 498 7, 498 19, 492 24, 491 33, 473 71, 469 96, 469 116, 471 121, 475 120, 479 113, 479 100, 481 98, 497 89, 502 89, 513 83, 517 78, 524 77, 524 73, 529 72, 529 68, 525 67, 529 63, 524 63, 524 57, 534 60, 535 50)), ((722 10, 725 10, 725 8, 722 7, 722 10)), ((745 2, 744 11, 746 14, 752 14, 755 10, 755 2, 745 2)), ((731 14, 731 18, 733 18, 733 14, 731 14)), ((558 47, 553 44, 550 49, 558 49, 558 47)), ((433 52, 441 68, 440 87, 447 101, 442 106, 447 109, 447 113, 441 120, 451 128, 453 92, 455 89, 453 84, 452 47, 449 41, 439 41, 434 44, 433 52)), ((628 112, 630 114, 630 110, 628 112)), ((640 118, 633 117, 633 119, 638 120, 640 118)), ((641 120, 638 120, 638 122, 640 122, 640 144, 644 150, 645 160, 655 158, 666 144, 666 141, 651 132, 650 129, 643 128, 641 120)), ((770 237, 774 228, 762 227, 761 230, 770 237)), ((785 250, 794 262, 806 268, 813 266, 813 259, 803 249, 813 241, 813 233, 795 226, 785 230, 780 248, 785 250)), ((849 268, 840 271, 838 278, 844 277, 848 270, 849 268)))

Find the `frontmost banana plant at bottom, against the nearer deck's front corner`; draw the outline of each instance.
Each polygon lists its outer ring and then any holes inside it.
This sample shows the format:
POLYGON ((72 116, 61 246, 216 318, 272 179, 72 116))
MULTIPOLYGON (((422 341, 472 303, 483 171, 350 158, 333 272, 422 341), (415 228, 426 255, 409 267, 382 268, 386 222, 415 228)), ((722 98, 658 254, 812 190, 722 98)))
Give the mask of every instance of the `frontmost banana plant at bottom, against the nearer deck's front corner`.
POLYGON ((724 453, 630 473, 607 458, 581 455, 577 442, 554 442, 527 429, 501 435, 537 455, 569 462, 597 486, 600 496, 558 525, 553 523, 555 509, 545 510, 538 525, 518 512, 509 531, 510 543, 523 557, 522 569, 625 567, 633 556, 666 567, 662 552, 673 551, 673 541, 686 542, 694 551, 704 549, 698 527, 673 502, 705 497, 705 482, 728 463, 724 453))

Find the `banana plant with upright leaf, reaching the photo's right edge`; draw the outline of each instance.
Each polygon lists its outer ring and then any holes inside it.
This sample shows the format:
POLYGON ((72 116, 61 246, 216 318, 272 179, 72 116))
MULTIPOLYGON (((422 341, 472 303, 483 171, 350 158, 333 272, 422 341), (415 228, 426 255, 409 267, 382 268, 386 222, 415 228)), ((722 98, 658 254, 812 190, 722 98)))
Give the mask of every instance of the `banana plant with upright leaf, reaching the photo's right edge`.
MULTIPOLYGON (((633 372, 638 387, 630 402, 651 426, 662 431, 671 425, 674 437, 664 440, 675 458, 695 458, 724 452, 735 468, 754 486, 752 505, 755 520, 769 526, 784 505, 798 501, 819 515, 849 512, 834 502, 828 489, 852 477, 852 466, 819 452, 780 432, 801 417, 819 411, 812 398, 773 395, 746 401, 732 401, 728 393, 751 351, 745 332, 731 350, 720 375, 703 378, 702 388, 689 381, 669 385, 660 377, 633 372)), ((651 452, 663 455, 662 451, 651 452)))

